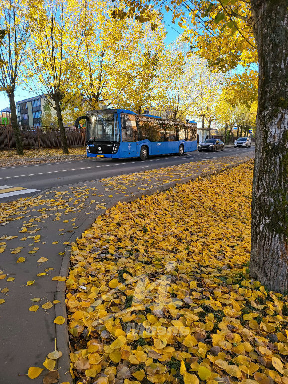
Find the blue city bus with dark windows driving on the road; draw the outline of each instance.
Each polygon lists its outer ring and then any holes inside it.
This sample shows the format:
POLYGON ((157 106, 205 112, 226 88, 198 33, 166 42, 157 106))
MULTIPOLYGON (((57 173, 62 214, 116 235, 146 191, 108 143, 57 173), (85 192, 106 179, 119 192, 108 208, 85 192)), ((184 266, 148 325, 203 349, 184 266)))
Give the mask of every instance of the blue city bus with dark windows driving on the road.
POLYGON ((131 158, 197 150, 197 124, 137 114, 125 109, 102 109, 78 117, 87 120, 87 157, 131 158))

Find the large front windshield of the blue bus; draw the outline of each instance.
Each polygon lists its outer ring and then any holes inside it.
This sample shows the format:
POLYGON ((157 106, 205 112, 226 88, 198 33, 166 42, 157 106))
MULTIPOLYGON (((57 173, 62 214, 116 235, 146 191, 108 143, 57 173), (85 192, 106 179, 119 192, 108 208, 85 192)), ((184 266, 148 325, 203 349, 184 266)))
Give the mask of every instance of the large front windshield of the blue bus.
POLYGON ((96 113, 90 117, 88 140, 120 142, 116 113, 96 113))

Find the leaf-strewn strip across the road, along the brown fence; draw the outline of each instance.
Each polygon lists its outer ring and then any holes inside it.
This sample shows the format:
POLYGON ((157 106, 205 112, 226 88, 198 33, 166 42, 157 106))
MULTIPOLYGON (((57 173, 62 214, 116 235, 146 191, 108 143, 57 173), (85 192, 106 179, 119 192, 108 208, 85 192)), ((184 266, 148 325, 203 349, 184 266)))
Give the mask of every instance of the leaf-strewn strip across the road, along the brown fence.
POLYGON ((24 156, 17 156, 16 150, 0 150, 0 167, 26 165, 61 160, 76 160, 86 156, 86 148, 69 148, 64 154, 61 148, 24 149, 24 156))

